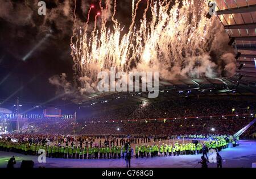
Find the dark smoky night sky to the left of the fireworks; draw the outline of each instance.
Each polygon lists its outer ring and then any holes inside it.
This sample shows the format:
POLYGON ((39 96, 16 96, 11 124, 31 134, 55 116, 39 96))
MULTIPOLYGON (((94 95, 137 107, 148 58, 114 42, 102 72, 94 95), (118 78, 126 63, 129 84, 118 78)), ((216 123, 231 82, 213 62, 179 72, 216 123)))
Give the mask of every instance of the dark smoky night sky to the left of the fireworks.
MULTIPOLYGON (((64 1, 46 1, 46 16, 37 14, 36 2, 3 0, 1 3, 0 107, 13 105, 17 97, 23 103, 46 102, 56 95, 49 77, 66 73, 68 80, 72 80, 73 61, 69 44, 73 29, 73 1, 68 1, 68 15, 63 12, 64 1), (23 58, 50 32, 51 36, 24 61, 23 58)), ((141 12, 146 2, 141 3, 141 12)), ((86 21, 92 4, 96 6, 92 11, 94 16, 100 11, 98 1, 77 0, 76 15, 80 24, 86 21)), ((130 9, 131 1, 118 1, 117 18, 122 19, 123 25, 130 23, 130 9)), ((62 105, 63 102, 56 100, 51 103, 62 105)))

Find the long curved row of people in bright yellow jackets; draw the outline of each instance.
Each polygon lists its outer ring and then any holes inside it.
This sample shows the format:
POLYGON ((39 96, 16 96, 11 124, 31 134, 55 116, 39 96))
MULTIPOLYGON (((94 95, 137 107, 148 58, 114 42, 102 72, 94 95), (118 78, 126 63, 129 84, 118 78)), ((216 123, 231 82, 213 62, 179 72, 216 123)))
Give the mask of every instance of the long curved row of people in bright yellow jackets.
POLYGON ((236 140, 228 140, 227 136, 215 136, 212 141, 204 141, 204 143, 179 143, 174 141, 173 144, 154 144, 154 145, 135 145, 131 148, 128 141, 125 145, 106 145, 98 144, 85 145, 47 145, 42 143, 13 142, 0 140, 0 150, 7 152, 18 152, 25 155, 39 155, 45 151, 47 157, 57 157, 65 159, 117 159, 125 157, 126 151, 133 153, 135 157, 154 157, 154 156, 176 156, 176 155, 196 155, 205 153, 209 149, 221 151, 227 147, 229 142, 236 145, 236 140), (41 150, 40 150, 41 149, 41 150), (43 149, 43 150, 42 150, 43 149))

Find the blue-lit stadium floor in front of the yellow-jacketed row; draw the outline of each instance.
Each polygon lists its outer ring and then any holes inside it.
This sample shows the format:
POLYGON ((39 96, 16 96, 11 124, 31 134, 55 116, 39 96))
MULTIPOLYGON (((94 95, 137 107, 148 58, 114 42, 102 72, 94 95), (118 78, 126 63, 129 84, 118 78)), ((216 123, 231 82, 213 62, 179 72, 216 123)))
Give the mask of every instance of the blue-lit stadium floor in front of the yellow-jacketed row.
MULTIPOLYGON (((46 159, 46 163, 38 163, 36 156, 25 156, 13 152, 0 152, 0 168, 5 168, 7 161, 11 156, 15 156, 16 165, 18 168, 22 160, 33 160, 35 167, 44 166, 46 168, 122 168, 126 167, 124 159, 46 159)), ((220 152, 222 159, 225 161, 222 166, 225 168, 230 167, 251 167, 252 163, 256 162, 256 140, 241 140, 240 145, 235 148, 227 148, 220 152)), ((131 159, 131 166, 135 168, 157 168, 157 167, 200 167, 197 161, 200 161, 201 155, 184 155, 184 156, 171 156, 171 157, 154 157, 144 159, 131 159)), ((209 155, 208 155, 209 157, 209 155)), ((209 168, 215 168, 216 164, 208 164, 209 168)))

